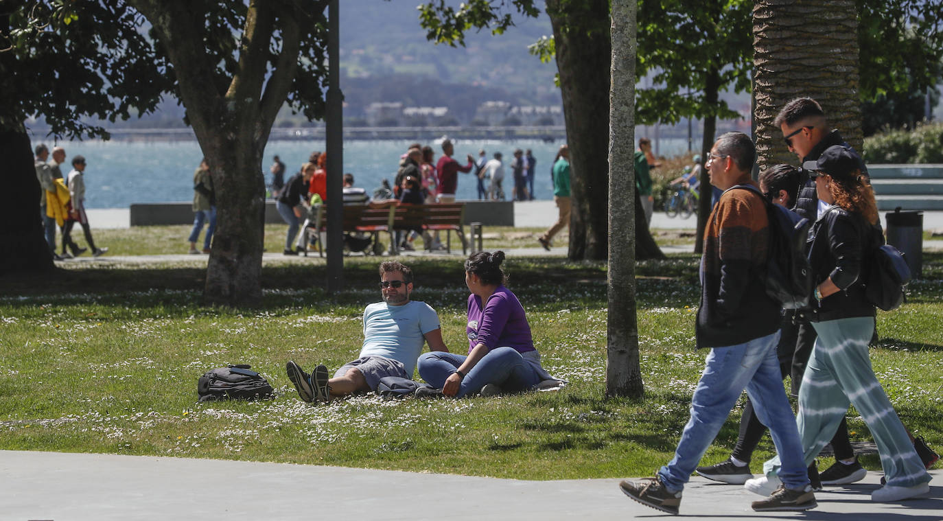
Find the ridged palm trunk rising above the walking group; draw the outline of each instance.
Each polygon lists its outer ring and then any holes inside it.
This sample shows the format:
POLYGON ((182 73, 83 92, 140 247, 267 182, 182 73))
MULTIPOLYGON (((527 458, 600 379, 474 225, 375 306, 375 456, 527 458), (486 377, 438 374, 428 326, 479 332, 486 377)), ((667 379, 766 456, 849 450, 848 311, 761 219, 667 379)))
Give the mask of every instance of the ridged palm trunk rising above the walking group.
POLYGON ((753 7, 756 153, 760 169, 797 162, 772 122, 791 99, 819 102, 829 124, 858 151, 858 21, 853 0, 757 0, 753 7))

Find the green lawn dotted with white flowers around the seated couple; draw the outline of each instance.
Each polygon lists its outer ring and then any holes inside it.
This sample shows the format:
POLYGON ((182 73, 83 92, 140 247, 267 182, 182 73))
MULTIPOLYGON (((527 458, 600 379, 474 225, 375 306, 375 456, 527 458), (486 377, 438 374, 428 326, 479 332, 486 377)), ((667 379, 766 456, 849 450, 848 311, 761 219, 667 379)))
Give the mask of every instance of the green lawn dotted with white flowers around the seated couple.
MULTIPOLYGON (((185 246, 175 233, 146 246, 128 237, 128 248, 185 246)), ((446 344, 465 352, 461 262, 410 261, 413 298, 438 310, 446 344)), ((693 349, 697 262, 687 255, 637 265, 642 400, 604 397, 606 286, 598 262, 507 261, 508 286, 528 313, 544 366, 570 382, 562 391, 462 400, 362 395, 321 406, 297 398, 285 361, 333 371, 356 358, 361 313, 379 300, 375 259, 345 260, 348 290, 335 295, 321 287, 323 263, 267 266, 255 310, 203 306, 204 272, 189 267, 0 277, 0 448, 521 479, 651 475, 670 460, 705 356, 693 349), (196 403, 197 378, 235 362, 269 378, 275 398, 196 403)), ((879 313, 872 360, 904 424, 940 449, 943 255, 926 252, 924 264, 926 279, 913 284, 910 301, 879 313)), ((739 406, 704 462, 726 458, 738 419, 739 406)), ((853 411, 850 426, 852 439, 870 439, 853 411)), ((754 472, 772 450, 769 439, 760 445, 754 472)), ((880 468, 876 457, 863 462, 880 468)))

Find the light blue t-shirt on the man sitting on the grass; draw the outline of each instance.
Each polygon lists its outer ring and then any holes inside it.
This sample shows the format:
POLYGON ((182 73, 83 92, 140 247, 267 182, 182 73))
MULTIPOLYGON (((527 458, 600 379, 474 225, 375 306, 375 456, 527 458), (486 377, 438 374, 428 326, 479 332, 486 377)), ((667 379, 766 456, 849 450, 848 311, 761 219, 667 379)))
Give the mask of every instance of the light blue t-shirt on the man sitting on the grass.
POLYGON ((441 328, 438 314, 425 302, 410 300, 402 306, 377 302, 363 311, 363 347, 360 356, 399 361, 410 377, 429 331, 441 328))

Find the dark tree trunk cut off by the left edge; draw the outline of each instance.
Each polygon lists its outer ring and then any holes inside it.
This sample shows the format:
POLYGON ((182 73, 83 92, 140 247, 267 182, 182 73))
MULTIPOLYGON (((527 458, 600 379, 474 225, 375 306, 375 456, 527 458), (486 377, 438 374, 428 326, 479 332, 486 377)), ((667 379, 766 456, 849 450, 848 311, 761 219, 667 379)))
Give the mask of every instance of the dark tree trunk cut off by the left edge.
POLYGON ((22 122, 0 122, 0 275, 55 269, 42 235, 40 181, 22 122))

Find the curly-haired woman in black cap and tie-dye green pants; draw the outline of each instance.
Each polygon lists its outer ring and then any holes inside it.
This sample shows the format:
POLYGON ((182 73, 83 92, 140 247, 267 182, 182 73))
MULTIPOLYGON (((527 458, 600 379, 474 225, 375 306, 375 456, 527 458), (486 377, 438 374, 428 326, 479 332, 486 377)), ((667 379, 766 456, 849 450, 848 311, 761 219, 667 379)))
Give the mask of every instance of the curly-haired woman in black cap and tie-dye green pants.
MULTIPOLYGON (((871 500, 924 495, 930 491, 930 475, 874 376, 868 354, 874 306, 865 286, 871 252, 880 240, 874 192, 857 159, 841 145, 829 147, 804 167, 815 176, 819 201, 829 205, 809 232, 816 281, 810 319, 819 337, 802 376, 796 416, 805 463, 811 464, 835 434, 851 400, 874 436, 885 471, 886 484, 871 500)), ((778 484, 772 474, 778 465, 778 458, 767 462, 769 478, 750 479, 746 488, 763 494, 778 484)))

